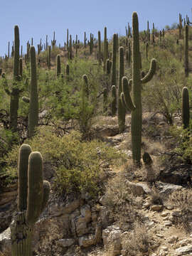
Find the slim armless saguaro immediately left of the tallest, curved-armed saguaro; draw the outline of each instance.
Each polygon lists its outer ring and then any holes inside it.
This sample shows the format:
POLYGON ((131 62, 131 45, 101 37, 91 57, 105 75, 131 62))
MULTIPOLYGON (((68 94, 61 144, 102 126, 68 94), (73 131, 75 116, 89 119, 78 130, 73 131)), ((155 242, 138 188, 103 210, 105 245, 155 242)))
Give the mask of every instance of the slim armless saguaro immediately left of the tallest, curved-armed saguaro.
POLYGON ((125 109, 121 101, 122 77, 124 76, 124 48, 119 47, 119 87, 118 87, 118 124, 119 132, 124 131, 125 109))

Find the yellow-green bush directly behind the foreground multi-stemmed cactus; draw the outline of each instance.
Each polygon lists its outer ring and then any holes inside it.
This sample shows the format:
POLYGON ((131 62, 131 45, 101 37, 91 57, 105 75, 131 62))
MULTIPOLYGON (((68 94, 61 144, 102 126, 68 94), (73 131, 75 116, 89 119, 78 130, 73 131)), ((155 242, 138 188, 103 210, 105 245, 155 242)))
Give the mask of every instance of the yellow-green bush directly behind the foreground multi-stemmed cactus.
MULTIPOLYGON (((53 188, 59 194, 88 192, 96 195, 104 182, 102 164, 117 165, 124 159, 123 154, 103 142, 81 142, 78 132, 57 137, 48 127, 41 127, 38 134, 26 143, 34 151, 41 151, 43 161, 55 170, 53 188)), ((8 183, 17 177, 17 152, 18 146, 14 146, 4 159, 4 175, 8 183)))

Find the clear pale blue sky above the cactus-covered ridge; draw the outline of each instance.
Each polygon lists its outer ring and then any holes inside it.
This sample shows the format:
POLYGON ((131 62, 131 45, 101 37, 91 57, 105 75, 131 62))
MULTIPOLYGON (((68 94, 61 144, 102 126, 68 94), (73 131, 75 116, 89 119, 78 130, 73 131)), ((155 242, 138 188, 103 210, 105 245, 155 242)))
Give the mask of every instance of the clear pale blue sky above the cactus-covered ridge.
POLYGON ((23 48, 33 37, 36 46, 40 38, 43 42, 55 39, 63 46, 66 31, 75 38, 78 34, 83 40, 84 31, 87 38, 107 26, 107 37, 113 33, 125 34, 125 26, 132 23, 132 12, 139 15, 139 30, 146 29, 154 22, 155 28, 162 29, 166 25, 178 22, 178 14, 188 14, 192 20, 191 0, 2 0, 0 6, 0 55, 7 53, 8 42, 14 40, 14 26, 20 30, 20 41, 23 48))

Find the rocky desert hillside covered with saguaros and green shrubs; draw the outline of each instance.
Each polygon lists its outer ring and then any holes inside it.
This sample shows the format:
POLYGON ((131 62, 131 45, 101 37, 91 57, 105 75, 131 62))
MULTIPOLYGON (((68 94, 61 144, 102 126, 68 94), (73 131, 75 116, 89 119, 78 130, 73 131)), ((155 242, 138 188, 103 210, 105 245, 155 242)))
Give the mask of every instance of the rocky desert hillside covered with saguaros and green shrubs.
POLYGON ((14 44, 0 60, 0 256, 192 255, 192 28, 14 44))

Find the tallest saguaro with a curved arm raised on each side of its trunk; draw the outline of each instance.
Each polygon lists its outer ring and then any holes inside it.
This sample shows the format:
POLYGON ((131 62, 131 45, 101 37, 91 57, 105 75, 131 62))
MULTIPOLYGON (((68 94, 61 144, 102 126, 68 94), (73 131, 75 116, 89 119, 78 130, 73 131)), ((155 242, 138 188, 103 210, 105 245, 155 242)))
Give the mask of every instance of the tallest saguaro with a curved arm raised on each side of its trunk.
POLYGON ((156 60, 151 60, 149 73, 141 78, 139 51, 139 23, 137 12, 132 14, 132 80, 122 78, 122 104, 132 111, 132 155, 134 164, 140 165, 142 144, 142 83, 149 82, 156 71, 156 60), (133 100, 130 96, 130 85, 133 86, 133 100))

